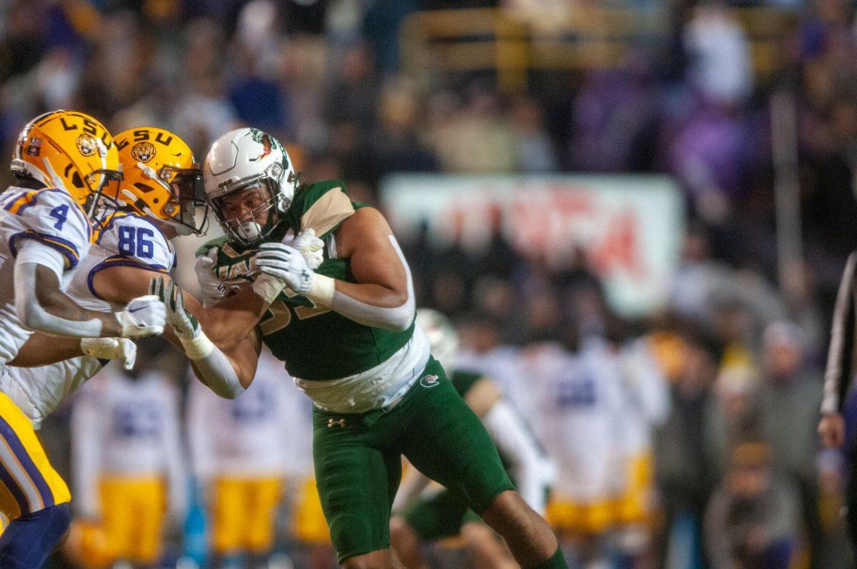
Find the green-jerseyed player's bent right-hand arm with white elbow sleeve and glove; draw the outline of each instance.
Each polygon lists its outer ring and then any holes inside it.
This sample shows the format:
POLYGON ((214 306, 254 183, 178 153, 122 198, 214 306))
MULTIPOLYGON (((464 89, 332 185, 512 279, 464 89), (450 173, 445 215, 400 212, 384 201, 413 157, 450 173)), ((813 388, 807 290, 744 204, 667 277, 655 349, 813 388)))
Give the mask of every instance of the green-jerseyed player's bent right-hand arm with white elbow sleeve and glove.
POLYGON ((376 209, 363 207, 345 219, 336 237, 339 256, 351 259, 357 283, 315 273, 297 249, 281 243, 262 244, 256 266, 316 306, 367 326, 406 330, 416 310, 414 287, 387 220, 376 209))

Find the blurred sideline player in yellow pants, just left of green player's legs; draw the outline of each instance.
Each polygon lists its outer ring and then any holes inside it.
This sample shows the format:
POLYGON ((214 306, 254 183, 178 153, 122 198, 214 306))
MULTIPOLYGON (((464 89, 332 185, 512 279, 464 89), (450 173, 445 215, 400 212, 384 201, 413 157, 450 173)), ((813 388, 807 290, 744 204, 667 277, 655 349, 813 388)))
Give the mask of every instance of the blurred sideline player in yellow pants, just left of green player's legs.
MULTIPOLYGON (((271 554, 289 446, 279 362, 263 354, 253 384, 236 399, 219 398, 194 381, 187 430, 193 471, 205 488, 213 566, 245 554, 257 566, 271 554)), ((295 390, 297 391, 297 390, 295 390)))

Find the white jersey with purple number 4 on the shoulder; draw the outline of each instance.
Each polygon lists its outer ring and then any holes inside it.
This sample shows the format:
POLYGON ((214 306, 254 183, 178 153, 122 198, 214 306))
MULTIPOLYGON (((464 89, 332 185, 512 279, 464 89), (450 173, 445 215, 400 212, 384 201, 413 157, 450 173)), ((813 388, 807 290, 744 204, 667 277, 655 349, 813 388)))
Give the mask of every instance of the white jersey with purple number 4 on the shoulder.
POLYGON ((89 251, 92 225, 62 189, 11 187, 0 195, 0 366, 15 357, 32 332, 15 313, 15 255, 27 239, 56 249, 65 257, 60 288, 89 251))

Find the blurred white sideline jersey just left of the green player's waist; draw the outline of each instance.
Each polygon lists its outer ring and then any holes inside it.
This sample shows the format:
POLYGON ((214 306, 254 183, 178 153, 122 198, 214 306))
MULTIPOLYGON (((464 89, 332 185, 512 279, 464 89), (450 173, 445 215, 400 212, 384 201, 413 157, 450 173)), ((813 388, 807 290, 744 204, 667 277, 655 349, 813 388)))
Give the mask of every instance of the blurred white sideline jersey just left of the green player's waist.
POLYGON ((192 381, 188 435, 197 476, 304 476, 312 473, 312 402, 263 348, 253 383, 235 399, 192 381))

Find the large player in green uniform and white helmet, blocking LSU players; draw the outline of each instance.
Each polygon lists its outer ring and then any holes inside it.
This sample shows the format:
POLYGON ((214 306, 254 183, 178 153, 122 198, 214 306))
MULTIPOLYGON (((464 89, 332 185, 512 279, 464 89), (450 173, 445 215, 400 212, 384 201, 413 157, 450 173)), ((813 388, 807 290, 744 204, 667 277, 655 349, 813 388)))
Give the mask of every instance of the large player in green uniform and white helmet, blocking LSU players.
MULTIPOLYGON (((404 454, 505 537, 525 569, 566 567, 415 326, 411 273, 381 213, 352 202, 340 182, 300 186, 282 145, 257 129, 215 141, 203 176, 226 231, 199 252, 203 289, 216 294, 216 278, 247 296, 233 332, 211 341, 233 362, 264 342, 315 403, 316 483, 339 562, 398 566, 389 521, 404 454), (284 244, 313 234, 322 247, 310 261, 303 246, 284 244)), ((192 338, 199 325, 180 294, 168 296, 168 318, 192 338)), ((211 371, 201 379, 216 380, 211 371)), ((255 361, 237 366, 241 386, 254 372, 255 361)))

